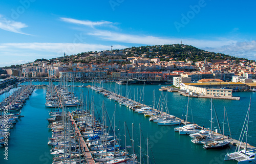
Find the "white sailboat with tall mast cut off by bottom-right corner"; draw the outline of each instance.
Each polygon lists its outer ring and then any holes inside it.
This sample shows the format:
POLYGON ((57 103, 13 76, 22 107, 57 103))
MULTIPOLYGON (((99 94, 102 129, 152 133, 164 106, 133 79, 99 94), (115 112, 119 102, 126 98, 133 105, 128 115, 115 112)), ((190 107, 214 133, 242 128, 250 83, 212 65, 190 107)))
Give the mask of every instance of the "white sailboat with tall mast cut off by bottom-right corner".
POLYGON ((241 135, 239 137, 239 142, 238 142, 236 151, 233 153, 226 154, 224 160, 234 159, 238 161, 238 164, 242 164, 242 163, 255 164, 256 163, 256 148, 250 148, 250 149, 247 148, 250 107, 251 107, 251 99, 250 99, 249 108, 247 110, 246 118, 244 121, 244 126, 242 128, 241 135), (242 134, 243 134, 243 137, 241 138, 242 134), (242 144, 244 135, 246 136, 245 149, 241 150, 241 144, 242 144), (241 139, 241 142, 240 142, 240 139, 241 139))

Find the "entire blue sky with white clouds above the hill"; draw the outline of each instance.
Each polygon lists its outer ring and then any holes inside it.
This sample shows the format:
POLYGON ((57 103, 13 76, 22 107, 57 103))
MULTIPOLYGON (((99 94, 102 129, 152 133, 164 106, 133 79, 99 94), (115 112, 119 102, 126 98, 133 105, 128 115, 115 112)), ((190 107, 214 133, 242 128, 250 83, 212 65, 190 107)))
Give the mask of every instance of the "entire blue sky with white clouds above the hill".
POLYGON ((256 1, 1 1, 0 66, 180 43, 256 60, 256 1))

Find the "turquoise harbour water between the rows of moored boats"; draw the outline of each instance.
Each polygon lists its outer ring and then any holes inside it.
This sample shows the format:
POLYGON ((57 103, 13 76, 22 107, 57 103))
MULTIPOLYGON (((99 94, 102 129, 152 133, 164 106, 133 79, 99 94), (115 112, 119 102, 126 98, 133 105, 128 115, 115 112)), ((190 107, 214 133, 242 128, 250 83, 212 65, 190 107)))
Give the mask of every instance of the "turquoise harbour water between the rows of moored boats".
MULTIPOLYGON (((38 83, 41 84, 41 83, 38 83)), ((80 83, 77 83, 80 85, 80 83)), ((88 85, 88 84, 86 84, 88 85)), ((105 87, 115 90, 115 84, 107 83, 105 87)), ((125 90, 129 90, 130 97, 137 99, 137 90, 142 91, 143 85, 132 85, 125 89, 125 85, 116 85, 117 92, 122 90, 122 95, 125 95, 125 90), (138 88, 138 89, 137 89, 138 88), (134 94, 135 90, 135 94, 134 94)), ((158 90, 158 85, 145 85, 144 89, 144 104, 152 105, 153 90, 155 89, 156 100, 159 101, 161 92, 158 90)), ((174 132, 174 127, 161 127, 156 123, 148 121, 143 115, 138 115, 132 110, 117 104, 114 101, 103 97, 99 93, 88 88, 74 88, 77 96, 82 92, 87 99, 94 98, 94 103, 97 111, 100 113, 101 104, 104 100, 106 109, 112 119, 114 109, 116 107, 116 126, 120 121, 120 138, 123 142, 124 122, 127 123, 130 135, 132 135, 132 123, 134 123, 134 140, 135 151, 139 156, 139 123, 141 123, 141 130, 143 133, 142 147, 143 154, 146 152, 144 140, 146 137, 150 138, 151 149, 150 157, 151 162, 154 163, 237 163, 235 161, 223 161, 224 155, 229 151, 225 150, 204 150, 202 145, 196 145, 190 142, 189 136, 179 135, 174 132), (82 91, 81 91, 82 89, 82 91), (151 153, 153 152, 153 155, 151 153), (153 157, 154 156, 154 157, 153 157)), ((47 128, 48 122, 46 119, 49 116, 49 108, 45 107, 45 93, 46 87, 36 87, 31 97, 27 100, 22 109, 24 118, 20 118, 15 128, 11 130, 11 135, 8 140, 8 161, 4 160, 3 148, 0 148, 0 163, 51 163, 50 147, 47 145, 48 137, 51 132, 47 128)), ((168 94, 168 109, 171 114, 182 117, 182 113, 186 108, 187 97, 180 96, 179 93, 165 92, 168 94)), ((140 95, 140 93, 139 93, 140 95)), ((249 98, 252 98, 251 105, 251 121, 255 122, 255 101, 256 93, 253 92, 238 92, 234 95, 240 96, 240 101, 234 100, 213 100, 220 122, 223 120, 224 106, 227 109, 230 130, 233 138, 238 139, 241 128, 244 122, 244 116, 248 109, 249 98)), ((73 110, 74 107, 69 108, 73 110)), ((210 99, 190 98, 189 109, 193 111, 194 122, 209 127, 210 119, 210 99)), ((189 111, 188 121, 192 122, 191 112, 189 111)), ((217 127, 217 124, 215 124, 217 127)), ((250 129, 256 129, 254 123, 250 123, 250 129)), ((116 131, 117 131, 116 128, 116 131)), ((225 133, 228 134, 228 127, 225 127, 225 133)), ((248 138, 248 143, 256 146, 255 136, 253 130, 249 131, 251 137, 248 138)), ((131 145, 129 133, 126 130, 127 145, 131 145)), ((146 157, 143 156, 145 161, 146 157)), ((143 160, 142 160, 143 163, 143 160)))

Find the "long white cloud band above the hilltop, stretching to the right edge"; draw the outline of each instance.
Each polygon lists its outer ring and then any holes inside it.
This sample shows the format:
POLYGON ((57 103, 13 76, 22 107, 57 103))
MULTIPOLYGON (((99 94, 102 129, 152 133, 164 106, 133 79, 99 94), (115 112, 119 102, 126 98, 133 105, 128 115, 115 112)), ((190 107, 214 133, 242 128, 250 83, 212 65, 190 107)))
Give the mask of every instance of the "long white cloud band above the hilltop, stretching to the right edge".
POLYGON ((163 38, 155 36, 122 34, 102 30, 95 30, 94 32, 87 34, 103 40, 145 45, 177 44, 182 40, 183 44, 193 45, 202 50, 256 60, 255 40, 241 42, 238 41, 240 39, 236 40, 229 38, 215 38, 212 40, 194 38, 163 38))

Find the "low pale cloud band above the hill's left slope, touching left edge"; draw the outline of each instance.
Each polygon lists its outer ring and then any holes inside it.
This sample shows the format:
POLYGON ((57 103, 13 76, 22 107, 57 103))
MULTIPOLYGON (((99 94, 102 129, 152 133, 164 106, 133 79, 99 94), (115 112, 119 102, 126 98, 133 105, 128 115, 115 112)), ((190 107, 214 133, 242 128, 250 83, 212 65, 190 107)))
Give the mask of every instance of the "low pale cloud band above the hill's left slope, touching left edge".
MULTIPOLYGON (((124 49, 126 46, 114 44, 115 49, 124 49)), ((56 58, 67 55, 78 54, 88 51, 110 50, 110 45, 87 44, 87 43, 0 43, 0 66, 16 65, 31 62, 36 59, 56 58), (14 61, 13 59, 16 59, 14 61), (24 62, 23 62, 24 60, 24 62)))

